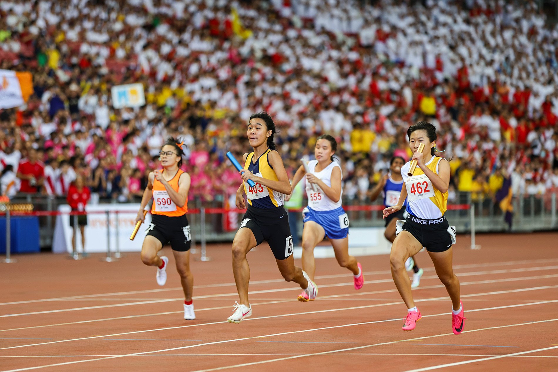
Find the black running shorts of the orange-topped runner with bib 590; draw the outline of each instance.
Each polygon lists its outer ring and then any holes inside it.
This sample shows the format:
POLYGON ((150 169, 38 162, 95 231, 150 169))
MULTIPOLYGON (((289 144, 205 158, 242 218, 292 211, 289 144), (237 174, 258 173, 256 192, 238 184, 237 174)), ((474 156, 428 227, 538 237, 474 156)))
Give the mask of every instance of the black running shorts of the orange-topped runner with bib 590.
POLYGON ((192 236, 186 214, 178 217, 152 214, 151 224, 145 233, 156 237, 163 246, 170 243, 174 251, 185 252, 190 249, 192 236))

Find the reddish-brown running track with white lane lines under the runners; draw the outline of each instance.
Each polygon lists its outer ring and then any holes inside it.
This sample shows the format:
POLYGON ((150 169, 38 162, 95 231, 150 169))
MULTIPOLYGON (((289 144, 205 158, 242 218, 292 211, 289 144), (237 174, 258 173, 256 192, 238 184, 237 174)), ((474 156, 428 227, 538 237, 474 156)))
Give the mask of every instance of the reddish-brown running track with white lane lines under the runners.
POLYGON ((0 371, 556 370, 556 241, 558 233, 480 235, 482 249, 469 250, 459 236, 454 268, 468 318, 459 336, 424 252, 413 332, 401 331, 406 308, 386 255, 359 257, 359 291, 334 259, 316 260, 319 298, 301 303, 267 245, 257 247, 248 255, 253 315, 238 325, 226 322, 237 300, 230 245, 191 263, 195 321, 182 319, 176 271, 158 287, 139 254, 116 263, 18 256, 0 266, 0 371))

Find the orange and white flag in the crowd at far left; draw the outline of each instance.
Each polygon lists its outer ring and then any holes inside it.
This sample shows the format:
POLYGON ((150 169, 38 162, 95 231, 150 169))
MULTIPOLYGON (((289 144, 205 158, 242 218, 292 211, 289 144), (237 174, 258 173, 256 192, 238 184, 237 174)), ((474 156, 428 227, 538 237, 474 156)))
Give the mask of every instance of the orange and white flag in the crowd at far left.
POLYGON ((0 70, 0 108, 22 106, 33 94, 31 73, 0 70))

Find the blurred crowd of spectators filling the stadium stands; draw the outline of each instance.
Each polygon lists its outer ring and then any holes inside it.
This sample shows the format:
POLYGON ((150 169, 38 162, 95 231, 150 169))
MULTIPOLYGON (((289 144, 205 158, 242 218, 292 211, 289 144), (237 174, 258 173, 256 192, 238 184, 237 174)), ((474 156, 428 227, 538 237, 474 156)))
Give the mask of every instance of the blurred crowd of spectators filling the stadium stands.
POLYGON ((336 137, 350 199, 409 159, 419 120, 439 130, 452 194, 491 197, 504 178, 548 194, 557 60, 558 27, 534 1, 4 0, 0 68, 31 71, 35 92, 0 110, 3 184, 66 195, 82 176, 100 198, 137 200, 178 136, 190 198, 234 194, 224 154, 249 151, 248 117, 266 110, 291 174, 316 136, 336 137), (113 108, 127 83, 145 106, 113 108))

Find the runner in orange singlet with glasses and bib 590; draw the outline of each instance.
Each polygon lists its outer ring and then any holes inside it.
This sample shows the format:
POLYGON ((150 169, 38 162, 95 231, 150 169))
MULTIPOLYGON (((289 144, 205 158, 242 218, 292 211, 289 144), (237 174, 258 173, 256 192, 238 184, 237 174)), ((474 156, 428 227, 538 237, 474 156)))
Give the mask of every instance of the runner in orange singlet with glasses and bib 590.
POLYGON ((141 260, 148 266, 157 266, 157 284, 165 285, 169 259, 166 256, 159 257, 157 252, 164 245, 171 245, 176 270, 184 290, 184 319, 192 320, 196 318, 192 303, 194 276, 190 271, 191 235, 190 224, 186 218, 190 175, 180 169, 184 155, 182 143, 169 138, 159 155, 163 169, 154 170, 149 174, 136 219, 143 221, 143 208, 153 197, 151 225, 146 230, 141 260))

